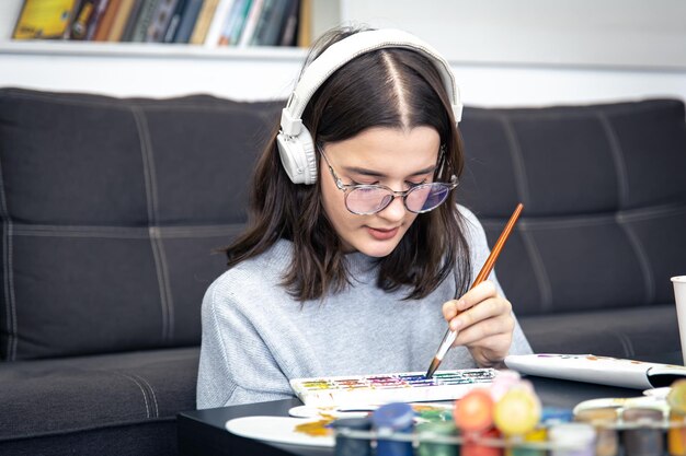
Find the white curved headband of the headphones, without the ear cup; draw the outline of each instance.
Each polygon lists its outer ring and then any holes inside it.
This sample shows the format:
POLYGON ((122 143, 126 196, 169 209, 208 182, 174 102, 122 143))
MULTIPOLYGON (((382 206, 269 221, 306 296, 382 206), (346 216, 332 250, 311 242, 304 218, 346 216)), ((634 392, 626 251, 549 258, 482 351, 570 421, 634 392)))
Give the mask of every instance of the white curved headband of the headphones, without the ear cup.
POLYGON ((460 121, 462 104, 459 89, 449 63, 427 43, 416 36, 393 28, 359 32, 328 47, 305 70, 295 91, 290 94, 286 107, 282 110, 281 128, 287 136, 297 136, 302 128, 302 112, 319 86, 334 71, 355 57, 381 48, 407 48, 424 54, 434 63, 443 85, 448 92, 455 120, 460 121))

